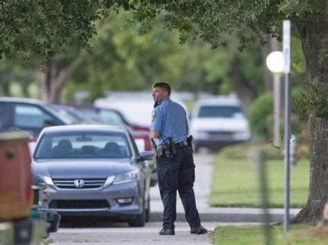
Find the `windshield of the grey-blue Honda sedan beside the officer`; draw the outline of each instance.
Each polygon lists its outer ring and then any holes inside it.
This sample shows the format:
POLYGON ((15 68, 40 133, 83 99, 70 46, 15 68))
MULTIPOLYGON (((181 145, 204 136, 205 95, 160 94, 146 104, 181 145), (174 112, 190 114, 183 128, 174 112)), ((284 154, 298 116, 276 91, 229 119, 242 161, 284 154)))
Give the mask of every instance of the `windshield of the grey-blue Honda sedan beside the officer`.
POLYGON ((42 137, 36 159, 48 158, 126 158, 131 157, 127 137, 104 133, 51 134, 42 137))

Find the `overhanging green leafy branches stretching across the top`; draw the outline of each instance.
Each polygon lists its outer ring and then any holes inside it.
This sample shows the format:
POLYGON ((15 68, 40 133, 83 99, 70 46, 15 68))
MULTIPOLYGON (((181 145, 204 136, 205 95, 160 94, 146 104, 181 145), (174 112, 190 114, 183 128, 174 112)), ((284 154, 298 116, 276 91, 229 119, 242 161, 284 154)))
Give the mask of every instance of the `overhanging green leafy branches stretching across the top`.
POLYGON ((119 10, 131 10, 145 30, 163 13, 168 30, 180 32, 180 42, 200 38, 213 48, 225 46, 225 33, 239 37, 239 49, 249 41, 264 43, 264 34, 281 39, 281 21, 304 26, 320 1, 1 1, 0 55, 27 61, 30 52, 46 59, 70 39, 82 48, 97 34, 95 21, 119 10))

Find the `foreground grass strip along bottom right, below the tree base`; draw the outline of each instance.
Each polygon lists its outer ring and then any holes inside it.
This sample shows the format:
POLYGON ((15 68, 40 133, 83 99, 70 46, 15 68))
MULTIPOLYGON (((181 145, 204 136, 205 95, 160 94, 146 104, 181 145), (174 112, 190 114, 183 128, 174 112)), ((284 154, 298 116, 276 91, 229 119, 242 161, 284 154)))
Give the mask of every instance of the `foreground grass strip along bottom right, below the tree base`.
MULTIPOLYGON (((309 225, 292 225, 284 233, 282 226, 270 226, 271 244, 328 244, 328 233, 320 233, 309 225)), ((220 226, 215 228, 214 244, 265 244, 264 226, 220 226)))

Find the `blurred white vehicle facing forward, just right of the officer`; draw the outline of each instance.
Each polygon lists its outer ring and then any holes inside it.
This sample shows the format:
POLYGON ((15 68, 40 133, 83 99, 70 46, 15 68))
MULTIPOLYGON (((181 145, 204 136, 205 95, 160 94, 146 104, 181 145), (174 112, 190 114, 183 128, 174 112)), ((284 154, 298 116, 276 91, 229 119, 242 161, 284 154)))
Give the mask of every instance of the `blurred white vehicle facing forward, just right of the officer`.
POLYGON ((218 96, 200 99, 194 104, 190 122, 194 150, 217 150, 250 139, 248 121, 236 97, 218 96))

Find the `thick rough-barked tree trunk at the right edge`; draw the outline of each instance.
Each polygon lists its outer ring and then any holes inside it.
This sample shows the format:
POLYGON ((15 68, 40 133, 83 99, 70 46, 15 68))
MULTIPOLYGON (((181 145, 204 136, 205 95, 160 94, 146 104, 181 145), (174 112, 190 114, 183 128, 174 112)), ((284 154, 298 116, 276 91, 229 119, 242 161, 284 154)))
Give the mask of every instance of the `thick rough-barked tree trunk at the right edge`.
MULTIPOLYGON (((326 101, 328 95, 328 12, 327 2, 322 0, 321 12, 308 19, 300 29, 302 48, 307 64, 307 80, 315 86, 326 101)), ((309 115, 310 133, 310 183, 305 207, 292 219, 293 223, 316 223, 322 217, 322 209, 327 198, 328 164, 328 116, 309 115)))

